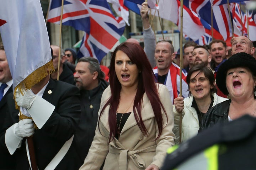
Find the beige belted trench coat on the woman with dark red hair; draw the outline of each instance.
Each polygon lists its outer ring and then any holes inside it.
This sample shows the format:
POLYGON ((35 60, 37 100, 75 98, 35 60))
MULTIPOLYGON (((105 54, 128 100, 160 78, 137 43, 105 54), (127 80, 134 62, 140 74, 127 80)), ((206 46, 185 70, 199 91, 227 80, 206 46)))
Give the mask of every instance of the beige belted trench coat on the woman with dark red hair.
MULTIPOLYGON (((100 119, 100 131, 102 135, 97 126, 94 141, 80 170, 98 170, 105 158, 103 170, 145 169, 150 164, 155 164, 161 168, 167 148, 174 145, 175 135, 172 132, 174 127, 174 113, 169 91, 164 85, 159 84, 158 92, 168 116, 167 122, 166 116, 162 112, 164 129, 158 140, 155 140, 158 136, 158 126, 154 118, 155 116, 150 101, 146 94, 144 94, 142 119, 149 132, 148 137, 145 137, 140 131, 132 112, 124 124, 119 141, 114 138, 107 145, 110 134, 108 126, 108 111, 110 106, 107 106, 100 119)), ((110 86, 108 86, 101 98, 101 108, 110 96, 111 91, 110 86)))

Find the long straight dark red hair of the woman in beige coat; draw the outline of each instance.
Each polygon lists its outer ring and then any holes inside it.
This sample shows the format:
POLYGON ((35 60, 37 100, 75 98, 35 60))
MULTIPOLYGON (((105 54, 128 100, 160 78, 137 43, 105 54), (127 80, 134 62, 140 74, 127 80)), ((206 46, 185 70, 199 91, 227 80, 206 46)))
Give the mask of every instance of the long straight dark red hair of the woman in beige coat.
MULTIPOLYGON (((111 142, 118 133, 117 124, 116 124, 116 111, 119 103, 119 96, 121 91, 121 84, 117 79, 117 75, 115 72, 115 58, 117 51, 123 51, 130 58, 130 60, 136 64, 137 68, 141 73, 138 76, 138 89, 135 95, 134 103, 133 103, 133 113, 135 120, 142 131, 144 136, 148 135, 148 130, 146 129, 142 117, 141 117, 141 108, 142 108, 142 99, 143 95, 146 92, 146 95, 149 98, 151 103, 156 122, 158 124, 159 134, 156 139, 158 139, 162 133, 163 128, 163 119, 161 115, 161 108, 165 112, 165 116, 167 117, 166 111, 162 102, 160 101, 158 89, 155 84, 155 75, 151 68, 151 65, 146 57, 146 54, 143 48, 137 44, 133 44, 130 42, 123 42, 114 50, 111 61, 110 61, 110 71, 109 71, 109 83, 111 89, 111 97, 108 99, 106 104, 103 106, 100 112, 100 116, 98 119, 98 128, 100 124, 100 118, 104 111, 104 109, 110 105, 108 123, 110 126, 110 137, 108 139, 108 143, 111 142), (136 112, 137 111, 137 112, 136 112)), ((171 104, 171 103, 170 103, 171 104)), ((99 128, 100 129, 100 128, 99 128)))

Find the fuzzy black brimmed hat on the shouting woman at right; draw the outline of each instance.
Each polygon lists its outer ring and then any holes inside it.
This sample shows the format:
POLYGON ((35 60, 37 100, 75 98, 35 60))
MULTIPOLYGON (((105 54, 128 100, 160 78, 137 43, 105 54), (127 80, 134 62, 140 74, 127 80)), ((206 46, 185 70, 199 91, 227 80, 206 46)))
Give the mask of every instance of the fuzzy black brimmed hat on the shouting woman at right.
POLYGON ((228 60, 220 65, 216 76, 217 86, 224 95, 229 94, 226 88, 226 74, 229 69, 237 67, 249 68, 252 75, 256 76, 256 60, 254 57, 245 52, 239 52, 232 55, 228 60))

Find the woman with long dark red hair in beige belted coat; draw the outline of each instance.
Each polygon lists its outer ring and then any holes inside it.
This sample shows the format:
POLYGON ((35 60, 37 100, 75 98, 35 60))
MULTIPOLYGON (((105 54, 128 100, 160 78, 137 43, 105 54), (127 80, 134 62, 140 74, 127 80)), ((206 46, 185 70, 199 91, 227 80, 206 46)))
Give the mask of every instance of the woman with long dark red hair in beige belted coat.
POLYGON ((81 170, 159 170, 174 145, 169 91, 155 83, 142 47, 120 44, 110 63, 94 141, 81 170))

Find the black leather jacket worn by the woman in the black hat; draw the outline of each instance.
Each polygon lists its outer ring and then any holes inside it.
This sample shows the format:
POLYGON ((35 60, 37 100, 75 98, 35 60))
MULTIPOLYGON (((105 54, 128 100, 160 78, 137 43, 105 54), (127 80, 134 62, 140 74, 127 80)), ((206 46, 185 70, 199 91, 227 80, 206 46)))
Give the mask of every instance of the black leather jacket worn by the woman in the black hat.
MULTIPOLYGON (((229 105, 231 100, 226 100, 212 107, 203 117, 199 131, 214 126, 217 123, 228 122, 229 105)), ((198 131, 198 132, 199 132, 198 131)))

